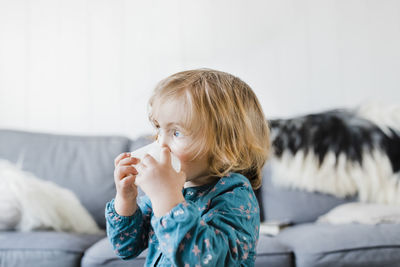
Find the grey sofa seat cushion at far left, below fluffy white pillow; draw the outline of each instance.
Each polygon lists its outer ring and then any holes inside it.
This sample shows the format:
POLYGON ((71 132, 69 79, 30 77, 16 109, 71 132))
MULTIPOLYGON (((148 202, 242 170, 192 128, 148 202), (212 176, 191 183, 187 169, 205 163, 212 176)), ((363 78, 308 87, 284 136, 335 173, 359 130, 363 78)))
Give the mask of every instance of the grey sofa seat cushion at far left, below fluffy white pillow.
POLYGON ((84 251, 104 235, 0 232, 0 266, 79 266, 84 251))

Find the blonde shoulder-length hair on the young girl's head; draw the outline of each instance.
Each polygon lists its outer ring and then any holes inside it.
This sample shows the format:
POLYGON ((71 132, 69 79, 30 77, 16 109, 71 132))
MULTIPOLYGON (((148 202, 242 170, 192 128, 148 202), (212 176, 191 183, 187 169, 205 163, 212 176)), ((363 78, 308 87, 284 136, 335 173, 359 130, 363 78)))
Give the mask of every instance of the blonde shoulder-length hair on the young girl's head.
POLYGON ((194 136, 193 159, 207 155, 210 173, 238 172, 261 186, 270 150, 269 127, 251 88, 239 78, 211 69, 188 70, 162 80, 149 101, 149 119, 161 103, 182 100, 185 128, 194 136))

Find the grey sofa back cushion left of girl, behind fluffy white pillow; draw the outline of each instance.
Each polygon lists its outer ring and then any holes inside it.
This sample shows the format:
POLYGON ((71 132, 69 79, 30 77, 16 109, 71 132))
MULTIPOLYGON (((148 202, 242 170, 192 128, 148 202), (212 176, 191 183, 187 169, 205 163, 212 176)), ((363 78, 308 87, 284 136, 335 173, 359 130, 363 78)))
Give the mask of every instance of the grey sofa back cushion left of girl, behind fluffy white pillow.
POLYGON ((129 145, 125 137, 0 130, 0 158, 71 189, 102 228, 104 207, 115 195, 114 158, 129 145))

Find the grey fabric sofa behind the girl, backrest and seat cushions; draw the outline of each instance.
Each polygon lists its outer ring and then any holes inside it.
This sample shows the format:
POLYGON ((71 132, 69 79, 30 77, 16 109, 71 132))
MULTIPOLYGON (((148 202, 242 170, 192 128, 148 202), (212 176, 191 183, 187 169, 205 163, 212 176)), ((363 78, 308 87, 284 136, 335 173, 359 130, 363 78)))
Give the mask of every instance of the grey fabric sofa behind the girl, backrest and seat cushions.
MULTIPOLYGON (((71 189, 105 227, 104 206, 115 194, 113 160, 148 141, 120 136, 69 136, 0 129, 0 158, 71 189)), ((263 219, 290 219, 278 236, 260 235, 256 266, 400 266, 400 226, 315 224, 339 199, 276 187, 264 169, 257 197, 263 219)), ((131 261, 117 258, 104 235, 0 232, 0 266, 143 266, 146 252, 131 261)))

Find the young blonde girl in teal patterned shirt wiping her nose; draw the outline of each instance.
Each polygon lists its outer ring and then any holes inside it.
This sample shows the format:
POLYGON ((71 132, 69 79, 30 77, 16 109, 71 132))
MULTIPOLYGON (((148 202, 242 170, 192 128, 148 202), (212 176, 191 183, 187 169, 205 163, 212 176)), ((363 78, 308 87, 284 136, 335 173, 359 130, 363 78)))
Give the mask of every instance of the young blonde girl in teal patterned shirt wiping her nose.
POLYGON ((160 162, 115 159, 117 194, 106 219, 116 254, 130 259, 148 248, 146 266, 253 266, 260 226, 253 189, 269 151, 254 92, 220 71, 176 73, 156 87, 149 119, 160 162), (138 204, 137 187, 146 194, 138 204))

